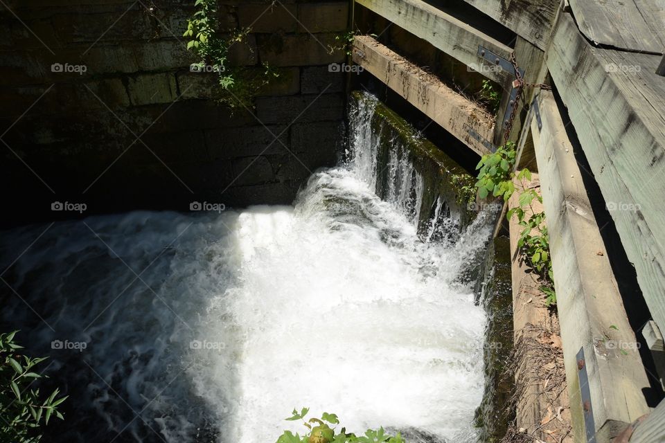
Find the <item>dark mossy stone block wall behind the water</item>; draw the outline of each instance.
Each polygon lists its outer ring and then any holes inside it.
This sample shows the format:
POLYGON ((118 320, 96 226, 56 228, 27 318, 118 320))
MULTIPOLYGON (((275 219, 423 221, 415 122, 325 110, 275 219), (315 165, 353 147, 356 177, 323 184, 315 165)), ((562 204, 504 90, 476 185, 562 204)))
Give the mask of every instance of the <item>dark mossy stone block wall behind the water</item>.
POLYGON ((288 204, 310 171, 335 163, 344 74, 328 65, 345 55, 328 46, 346 30, 348 1, 220 0, 222 26, 252 28, 233 64, 281 71, 234 114, 211 99, 214 73, 189 70, 181 35, 193 0, 5 3, 5 226, 75 215, 53 213, 53 201, 85 203, 87 214, 288 204))

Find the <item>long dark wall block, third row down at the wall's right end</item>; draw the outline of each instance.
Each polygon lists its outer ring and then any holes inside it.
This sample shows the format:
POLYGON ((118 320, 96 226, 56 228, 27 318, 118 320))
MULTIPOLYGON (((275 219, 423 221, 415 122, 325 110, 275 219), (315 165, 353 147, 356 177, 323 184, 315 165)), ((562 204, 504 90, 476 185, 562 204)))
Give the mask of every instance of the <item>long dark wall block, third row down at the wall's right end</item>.
POLYGON ((256 115, 263 123, 303 123, 344 118, 342 94, 322 96, 259 97, 256 115))

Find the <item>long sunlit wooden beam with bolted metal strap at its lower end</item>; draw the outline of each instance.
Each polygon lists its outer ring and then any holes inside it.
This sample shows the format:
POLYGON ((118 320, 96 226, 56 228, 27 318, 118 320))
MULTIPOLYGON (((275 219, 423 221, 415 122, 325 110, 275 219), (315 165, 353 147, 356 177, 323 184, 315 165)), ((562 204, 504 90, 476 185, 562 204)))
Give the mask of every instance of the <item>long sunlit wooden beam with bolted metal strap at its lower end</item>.
POLYGON ((596 441, 610 442, 648 413, 649 387, 623 300, 587 197, 573 147, 552 94, 538 98, 542 129, 531 134, 538 159, 576 441, 585 441, 576 354, 584 348, 596 441))

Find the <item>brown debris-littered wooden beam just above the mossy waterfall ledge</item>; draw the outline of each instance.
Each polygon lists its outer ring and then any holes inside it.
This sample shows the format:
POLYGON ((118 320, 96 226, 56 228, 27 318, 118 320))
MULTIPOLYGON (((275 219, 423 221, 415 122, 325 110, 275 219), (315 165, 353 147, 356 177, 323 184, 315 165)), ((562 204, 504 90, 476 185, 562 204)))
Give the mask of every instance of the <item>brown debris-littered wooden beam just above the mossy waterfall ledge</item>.
POLYGON ((369 36, 355 37, 353 62, 387 84, 479 155, 490 152, 469 134, 468 129, 473 129, 491 141, 493 116, 445 86, 434 75, 426 73, 369 36))

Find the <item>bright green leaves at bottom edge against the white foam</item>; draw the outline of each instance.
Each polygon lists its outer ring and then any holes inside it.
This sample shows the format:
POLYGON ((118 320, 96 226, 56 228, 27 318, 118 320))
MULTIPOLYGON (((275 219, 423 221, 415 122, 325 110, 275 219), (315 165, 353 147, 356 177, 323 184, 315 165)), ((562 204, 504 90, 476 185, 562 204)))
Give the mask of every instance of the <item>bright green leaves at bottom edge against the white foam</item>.
POLYGON ((277 439, 276 443, 406 443, 402 436, 388 435, 384 428, 378 430, 368 429, 364 435, 355 435, 347 433, 346 428, 342 428, 339 433, 335 433, 335 428, 330 425, 339 424, 339 419, 335 414, 323 413, 321 419, 310 418, 305 421, 309 408, 302 408, 300 412, 294 409, 291 417, 286 420, 294 422, 302 420, 307 431, 301 436, 295 435, 291 431, 284 431, 277 439))

